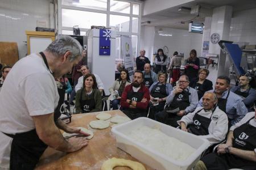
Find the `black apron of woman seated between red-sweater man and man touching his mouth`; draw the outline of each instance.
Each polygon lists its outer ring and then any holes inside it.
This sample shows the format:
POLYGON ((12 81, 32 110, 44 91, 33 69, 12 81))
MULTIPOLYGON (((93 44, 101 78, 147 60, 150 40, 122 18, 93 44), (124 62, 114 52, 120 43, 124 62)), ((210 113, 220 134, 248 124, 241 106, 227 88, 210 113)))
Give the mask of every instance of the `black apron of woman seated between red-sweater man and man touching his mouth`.
MULTIPOLYGON (((150 95, 154 98, 158 97, 159 99, 166 97, 167 96, 166 84, 156 83, 155 86, 152 88, 150 95)), ((166 104, 166 101, 160 101, 158 105, 155 105, 155 106, 152 105, 151 108, 155 108, 158 110, 158 112, 160 112, 160 111, 163 111, 165 104, 166 104)))

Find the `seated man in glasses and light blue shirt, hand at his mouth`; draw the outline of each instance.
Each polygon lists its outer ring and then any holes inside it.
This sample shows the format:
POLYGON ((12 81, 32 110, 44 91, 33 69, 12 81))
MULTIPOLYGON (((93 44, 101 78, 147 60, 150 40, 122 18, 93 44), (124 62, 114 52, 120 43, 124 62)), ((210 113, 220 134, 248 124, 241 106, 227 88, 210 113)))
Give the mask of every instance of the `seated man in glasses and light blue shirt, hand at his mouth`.
POLYGON ((189 87, 189 80, 187 75, 181 75, 179 84, 167 96, 166 109, 155 114, 155 120, 164 124, 170 124, 177 127, 177 121, 187 113, 193 112, 198 103, 197 92, 194 88, 189 87), (170 122, 167 122, 169 118, 170 122))

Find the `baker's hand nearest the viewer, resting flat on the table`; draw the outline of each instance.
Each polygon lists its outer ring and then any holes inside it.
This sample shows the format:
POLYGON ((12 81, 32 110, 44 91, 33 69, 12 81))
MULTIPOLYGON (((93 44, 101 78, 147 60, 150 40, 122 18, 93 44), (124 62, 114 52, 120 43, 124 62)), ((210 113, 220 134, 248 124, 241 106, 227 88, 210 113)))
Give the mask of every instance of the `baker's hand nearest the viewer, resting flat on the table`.
POLYGON ((80 150, 80 148, 85 147, 88 145, 88 141, 84 137, 72 137, 68 139, 70 147, 68 148, 67 152, 75 152, 80 150))

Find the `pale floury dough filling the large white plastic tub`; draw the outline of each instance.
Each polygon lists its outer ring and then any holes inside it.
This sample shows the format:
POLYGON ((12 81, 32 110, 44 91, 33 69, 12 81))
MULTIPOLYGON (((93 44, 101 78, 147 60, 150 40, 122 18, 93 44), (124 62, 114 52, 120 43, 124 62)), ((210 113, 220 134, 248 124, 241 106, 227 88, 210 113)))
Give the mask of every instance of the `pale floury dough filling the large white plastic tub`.
POLYGON ((189 146, 187 143, 169 137, 158 129, 152 129, 147 126, 141 126, 131 131, 128 136, 133 141, 141 143, 175 160, 185 160, 196 151, 195 148, 189 146))

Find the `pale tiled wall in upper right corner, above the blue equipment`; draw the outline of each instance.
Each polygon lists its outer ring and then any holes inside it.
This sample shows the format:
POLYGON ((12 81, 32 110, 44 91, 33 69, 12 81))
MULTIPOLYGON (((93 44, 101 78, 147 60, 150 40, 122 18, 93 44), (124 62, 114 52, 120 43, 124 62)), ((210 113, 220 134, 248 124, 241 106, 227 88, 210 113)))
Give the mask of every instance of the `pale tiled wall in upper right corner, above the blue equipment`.
POLYGON ((256 8, 233 13, 229 40, 256 44, 256 8))

